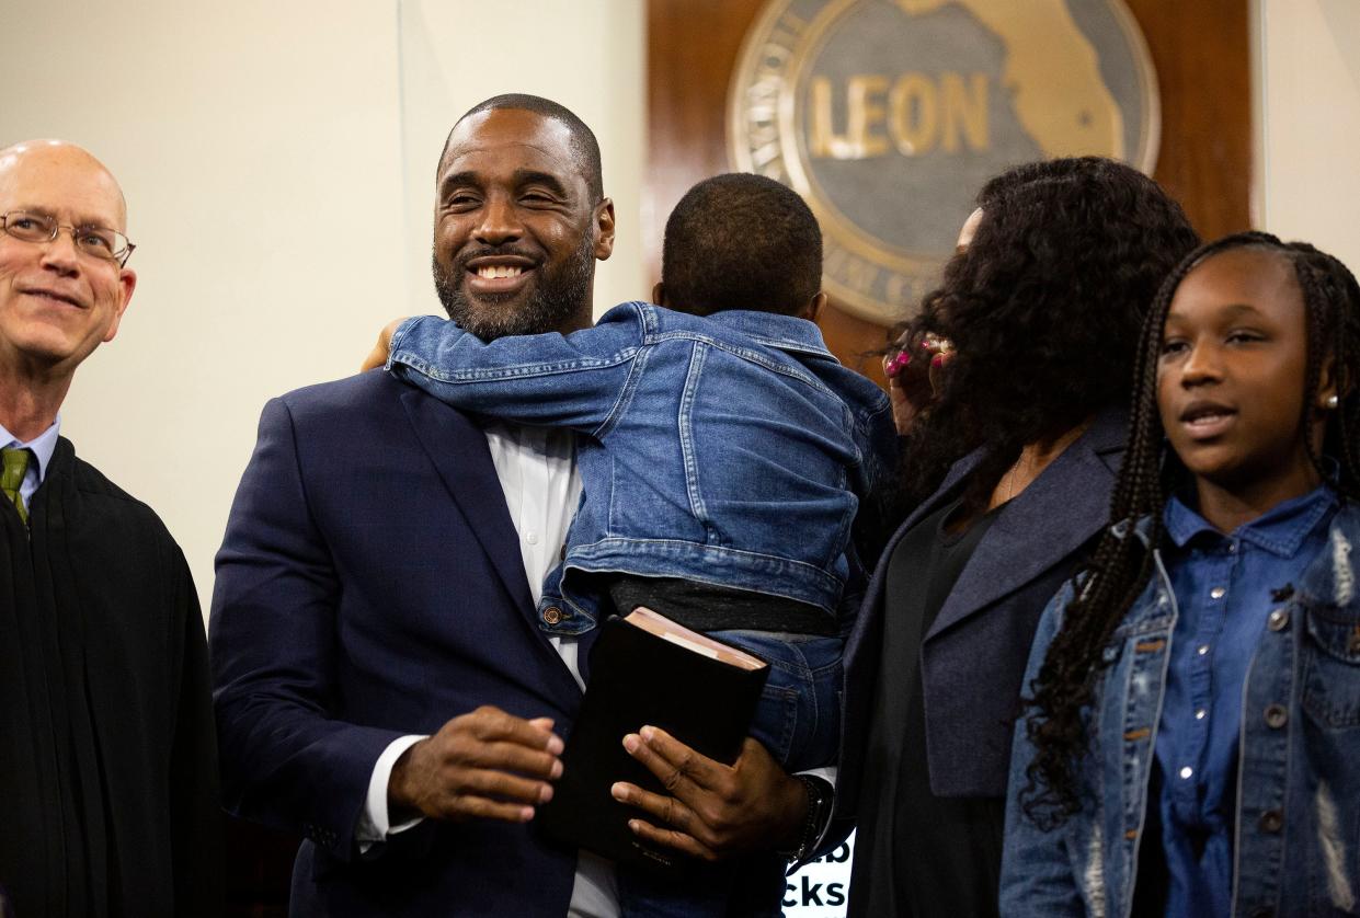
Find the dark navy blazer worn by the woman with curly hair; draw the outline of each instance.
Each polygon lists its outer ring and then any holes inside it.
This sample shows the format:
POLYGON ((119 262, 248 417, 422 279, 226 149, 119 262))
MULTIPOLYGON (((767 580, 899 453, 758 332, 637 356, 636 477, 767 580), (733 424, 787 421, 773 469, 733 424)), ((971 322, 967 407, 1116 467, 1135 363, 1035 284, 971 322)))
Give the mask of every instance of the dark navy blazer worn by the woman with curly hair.
MULTIPOLYGON (((1005 797, 1020 680, 1039 615, 1076 573, 1110 515, 1126 416, 1104 411, 982 536, 921 645, 930 790, 1005 797)), ((846 643, 836 816, 854 819, 883 646, 888 560, 918 520, 955 499, 982 453, 955 464, 898 528, 846 643)))

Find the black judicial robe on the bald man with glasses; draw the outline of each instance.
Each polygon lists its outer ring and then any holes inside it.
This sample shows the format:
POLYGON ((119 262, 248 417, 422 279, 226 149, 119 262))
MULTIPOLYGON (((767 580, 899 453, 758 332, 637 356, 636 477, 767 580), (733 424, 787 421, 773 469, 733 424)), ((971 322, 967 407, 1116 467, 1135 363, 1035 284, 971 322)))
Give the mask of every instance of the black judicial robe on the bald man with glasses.
POLYGON ((65 438, 30 524, 0 502, 0 885, 19 918, 215 914, 216 738, 184 555, 65 438))

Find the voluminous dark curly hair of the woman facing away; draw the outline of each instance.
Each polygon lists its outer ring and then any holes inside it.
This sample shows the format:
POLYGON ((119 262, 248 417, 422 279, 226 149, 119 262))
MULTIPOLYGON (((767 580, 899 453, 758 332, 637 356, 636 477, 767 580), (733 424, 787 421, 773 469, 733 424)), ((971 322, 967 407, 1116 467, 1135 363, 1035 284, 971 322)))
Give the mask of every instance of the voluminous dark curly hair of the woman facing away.
POLYGON ((894 515, 986 446, 964 495, 987 496, 1025 443, 1127 401, 1138 328, 1161 279, 1198 237, 1142 173, 1099 156, 1028 163, 978 194, 982 222, 945 265, 907 340, 955 344, 941 390, 906 434, 894 515))

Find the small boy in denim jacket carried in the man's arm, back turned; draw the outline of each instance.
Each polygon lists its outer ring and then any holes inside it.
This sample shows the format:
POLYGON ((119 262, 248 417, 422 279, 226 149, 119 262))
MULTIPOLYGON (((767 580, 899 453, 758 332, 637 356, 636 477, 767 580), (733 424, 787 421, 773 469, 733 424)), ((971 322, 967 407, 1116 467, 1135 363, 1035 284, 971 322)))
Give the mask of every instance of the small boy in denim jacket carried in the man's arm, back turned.
MULTIPOLYGON (((793 190, 751 174, 699 182, 666 222, 662 260, 662 307, 494 341, 416 317, 392 333, 388 369, 456 408, 578 434, 583 492, 540 628, 577 635, 647 607, 749 650, 771 664, 752 736, 790 771, 826 766, 840 611, 862 588, 851 525, 894 461, 888 400, 812 322, 821 234, 793 190)), ((534 269, 514 241, 475 261, 507 286, 534 269)))

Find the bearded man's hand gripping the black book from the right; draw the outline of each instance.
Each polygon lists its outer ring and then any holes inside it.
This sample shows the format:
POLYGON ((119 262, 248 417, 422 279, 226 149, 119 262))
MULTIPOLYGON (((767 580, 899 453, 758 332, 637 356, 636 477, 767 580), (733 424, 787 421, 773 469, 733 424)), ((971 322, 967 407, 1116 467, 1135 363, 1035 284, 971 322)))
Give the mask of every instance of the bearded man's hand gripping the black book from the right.
POLYGON ((704 861, 797 847, 808 794, 763 745, 747 737, 732 766, 699 755, 665 730, 645 726, 623 738, 634 759, 661 779, 670 797, 636 785, 613 785, 613 798, 669 828, 641 819, 628 827, 642 839, 704 861))

